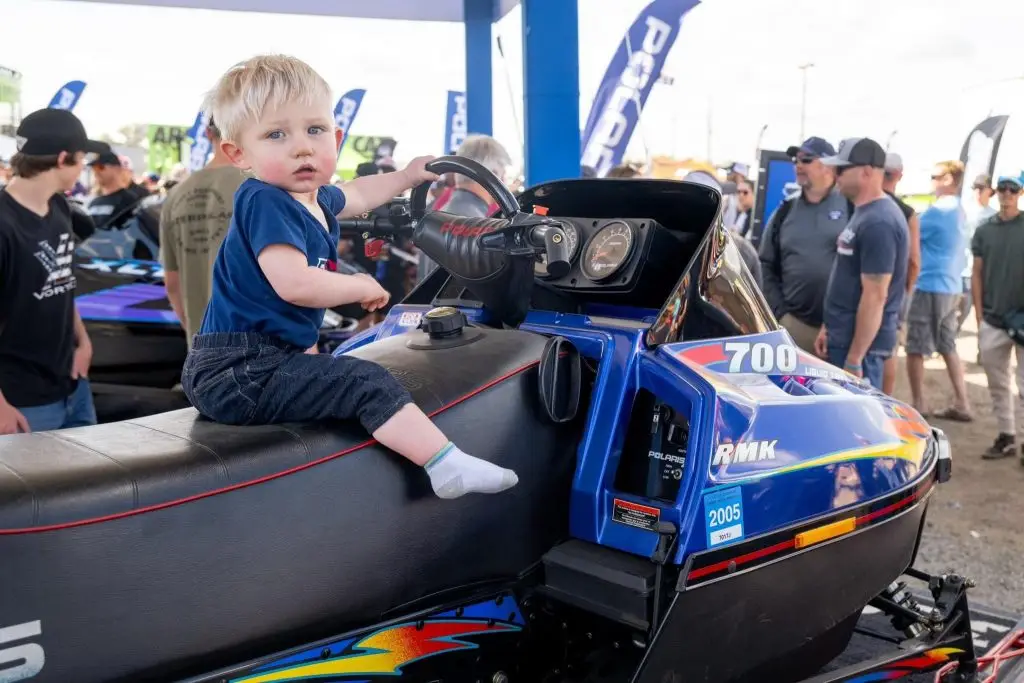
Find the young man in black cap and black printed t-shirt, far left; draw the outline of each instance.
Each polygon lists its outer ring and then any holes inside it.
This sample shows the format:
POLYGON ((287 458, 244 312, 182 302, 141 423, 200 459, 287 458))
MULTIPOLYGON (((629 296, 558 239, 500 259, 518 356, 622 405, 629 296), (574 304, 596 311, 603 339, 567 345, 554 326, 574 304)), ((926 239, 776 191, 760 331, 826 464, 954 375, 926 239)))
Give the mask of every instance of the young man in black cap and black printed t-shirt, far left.
POLYGON ((95 424, 92 344, 75 307, 75 238, 63 193, 88 139, 75 115, 41 110, 17 128, 14 178, 0 189, 0 434, 95 424))

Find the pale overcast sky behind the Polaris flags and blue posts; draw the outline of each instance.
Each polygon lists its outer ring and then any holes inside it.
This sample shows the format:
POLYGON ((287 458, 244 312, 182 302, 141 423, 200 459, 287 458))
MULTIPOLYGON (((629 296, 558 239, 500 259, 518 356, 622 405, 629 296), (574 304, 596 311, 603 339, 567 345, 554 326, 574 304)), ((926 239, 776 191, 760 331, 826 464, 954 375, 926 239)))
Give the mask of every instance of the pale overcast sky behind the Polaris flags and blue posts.
MULTIPOLYGON (((582 120, 645 4, 580 0, 582 120)), ((65 0, 0 0, 0 65, 24 74, 26 111, 45 106, 69 80, 86 81, 76 113, 94 135, 132 123, 190 125, 224 69, 280 51, 313 65, 336 94, 367 88, 352 133, 392 135, 408 159, 440 152, 444 92, 464 87, 462 28, 454 24, 65 0)), ((897 130, 893 150, 925 179, 931 163, 958 155, 990 111, 1024 119, 1024 80, 996 82, 1024 76, 1022 28, 1017 0, 705 0, 684 20, 666 66, 675 84, 655 86, 631 155, 642 157, 646 142, 652 154, 706 158, 710 148, 714 161, 753 161, 766 124, 764 146, 784 148, 800 135, 798 67, 813 62, 807 133, 884 144, 897 130)), ((519 158, 519 10, 495 34, 507 56, 502 62, 495 51, 495 134, 519 158)), ((1024 123, 1014 118, 999 166, 1024 166, 1024 123)))

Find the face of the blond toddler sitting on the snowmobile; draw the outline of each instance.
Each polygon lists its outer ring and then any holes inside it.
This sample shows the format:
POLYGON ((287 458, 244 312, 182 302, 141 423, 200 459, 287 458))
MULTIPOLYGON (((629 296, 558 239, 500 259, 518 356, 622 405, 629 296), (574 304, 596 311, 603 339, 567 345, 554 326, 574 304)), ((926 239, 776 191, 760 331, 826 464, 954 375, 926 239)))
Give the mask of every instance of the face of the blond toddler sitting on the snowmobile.
POLYGON ((289 103, 265 111, 239 140, 222 144, 236 166, 290 193, 305 194, 331 182, 340 139, 329 102, 289 103))

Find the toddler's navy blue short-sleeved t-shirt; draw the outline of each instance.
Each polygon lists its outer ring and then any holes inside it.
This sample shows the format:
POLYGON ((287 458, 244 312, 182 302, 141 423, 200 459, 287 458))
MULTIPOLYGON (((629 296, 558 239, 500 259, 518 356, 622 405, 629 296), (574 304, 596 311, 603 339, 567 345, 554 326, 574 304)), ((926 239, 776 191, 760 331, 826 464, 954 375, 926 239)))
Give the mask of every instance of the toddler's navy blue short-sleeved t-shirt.
POLYGON ((256 332, 302 349, 316 343, 325 309, 282 299, 256 260, 271 245, 290 245, 306 255, 309 265, 336 271, 340 237, 336 216, 345 208, 345 195, 325 185, 316 201, 330 232, 284 189, 254 178, 242 183, 213 266, 213 291, 200 334, 256 332))

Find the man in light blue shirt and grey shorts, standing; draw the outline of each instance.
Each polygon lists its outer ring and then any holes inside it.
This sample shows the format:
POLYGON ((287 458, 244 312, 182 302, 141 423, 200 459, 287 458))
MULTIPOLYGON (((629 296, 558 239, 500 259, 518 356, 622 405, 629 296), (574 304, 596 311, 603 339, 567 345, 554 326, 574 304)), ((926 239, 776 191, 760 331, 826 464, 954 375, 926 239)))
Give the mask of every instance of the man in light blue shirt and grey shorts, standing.
POLYGON ((938 351, 953 385, 953 404, 933 417, 971 422, 964 366, 956 353, 959 305, 964 298, 966 214, 959 191, 964 164, 946 161, 932 172, 935 203, 921 214, 921 274, 907 316, 906 372, 913 407, 927 415, 925 356, 938 351))

